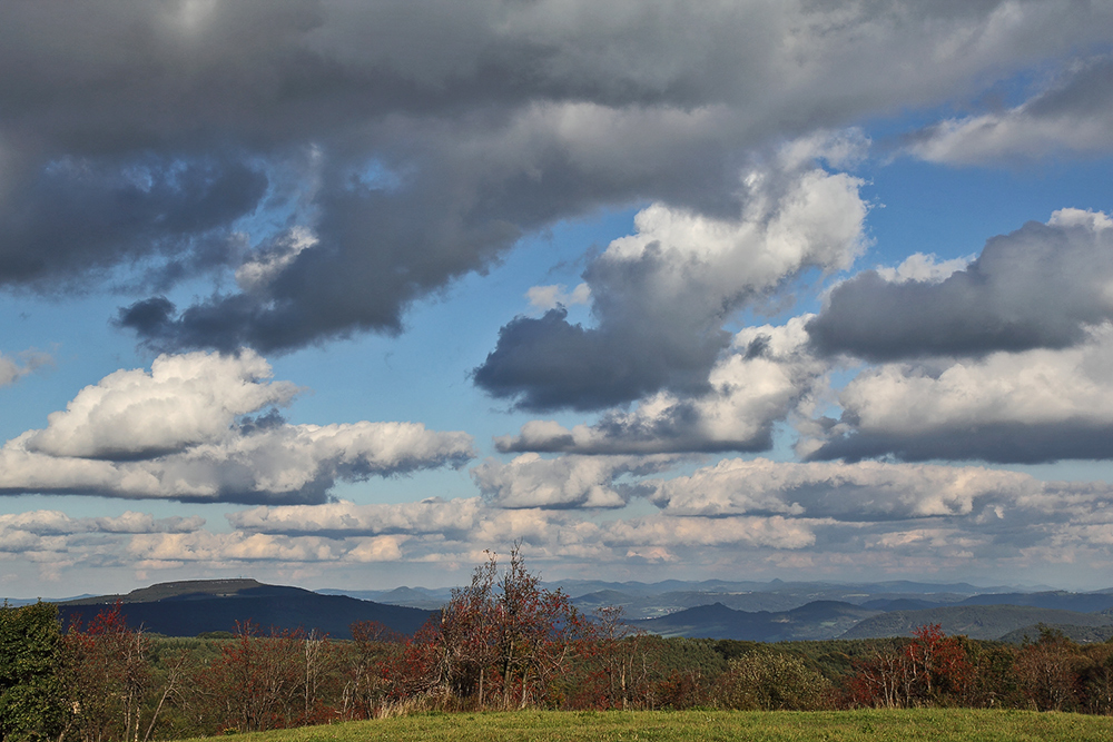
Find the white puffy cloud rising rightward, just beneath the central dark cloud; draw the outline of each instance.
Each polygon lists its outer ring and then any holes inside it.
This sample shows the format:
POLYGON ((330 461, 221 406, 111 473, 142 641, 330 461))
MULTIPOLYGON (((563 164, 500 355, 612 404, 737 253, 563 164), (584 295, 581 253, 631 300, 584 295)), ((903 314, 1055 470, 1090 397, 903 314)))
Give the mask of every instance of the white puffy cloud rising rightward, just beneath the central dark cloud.
POLYGON ((611 410, 594 425, 571 429, 531 421, 495 445, 502 452, 575 454, 766 451, 774 425, 810 399, 828 370, 809 352, 804 326, 810 317, 738 333, 712 366, 705 394, 683 398, 660 392, 632 412, 611 410))

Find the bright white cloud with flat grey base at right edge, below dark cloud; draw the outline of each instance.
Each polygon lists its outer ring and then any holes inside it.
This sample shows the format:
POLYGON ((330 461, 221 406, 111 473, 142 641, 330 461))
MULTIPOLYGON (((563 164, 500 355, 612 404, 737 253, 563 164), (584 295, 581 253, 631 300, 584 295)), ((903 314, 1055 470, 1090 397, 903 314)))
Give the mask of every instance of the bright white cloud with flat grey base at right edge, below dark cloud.
POLYGON ((839 422, 801 451, 851 459, 1113 457, 1113 324, 1083 337, 1061 350, 869 368, 839 392, 839 422))

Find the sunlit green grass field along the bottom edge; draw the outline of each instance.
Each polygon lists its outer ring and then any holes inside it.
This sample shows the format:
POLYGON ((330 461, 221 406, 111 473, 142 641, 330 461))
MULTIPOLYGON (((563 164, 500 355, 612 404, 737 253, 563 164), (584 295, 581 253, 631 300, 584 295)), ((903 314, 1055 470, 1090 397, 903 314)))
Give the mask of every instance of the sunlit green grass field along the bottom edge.
MULTIPOLYGON (((221 738, 227 739, 227 738, 221 738)), ((1113 718, 1028 711, 512 712, 418 714, 236 735, 240 742, 1110 742, 1113 718)))

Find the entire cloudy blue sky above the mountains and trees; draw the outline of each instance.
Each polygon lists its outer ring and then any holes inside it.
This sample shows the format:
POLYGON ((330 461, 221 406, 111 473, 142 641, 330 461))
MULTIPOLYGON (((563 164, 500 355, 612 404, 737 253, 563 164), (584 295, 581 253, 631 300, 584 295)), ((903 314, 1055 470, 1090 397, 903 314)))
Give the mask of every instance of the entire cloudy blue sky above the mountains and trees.
POLYGON ((0 594, 1113 586, 1113 6, 0 9, 0 594))

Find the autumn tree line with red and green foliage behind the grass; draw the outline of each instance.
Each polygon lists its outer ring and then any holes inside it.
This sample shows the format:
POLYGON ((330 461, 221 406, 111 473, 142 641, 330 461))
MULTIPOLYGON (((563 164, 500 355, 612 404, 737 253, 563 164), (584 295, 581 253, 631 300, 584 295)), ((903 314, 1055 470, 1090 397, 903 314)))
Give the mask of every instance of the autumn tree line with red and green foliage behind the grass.
POLYGON ((1023 645, 946 636, 754 642, 662 639, 621 611, 587 616, 518 550, 491 555, 413 636, 351 641, 250 621, 168 639, 121 606, 66 631, 55 606, 0 610, 0 741, 148 742, 416 711, 1013 708, 1113 713, 1113 644, 1044 630, 1023 645))

